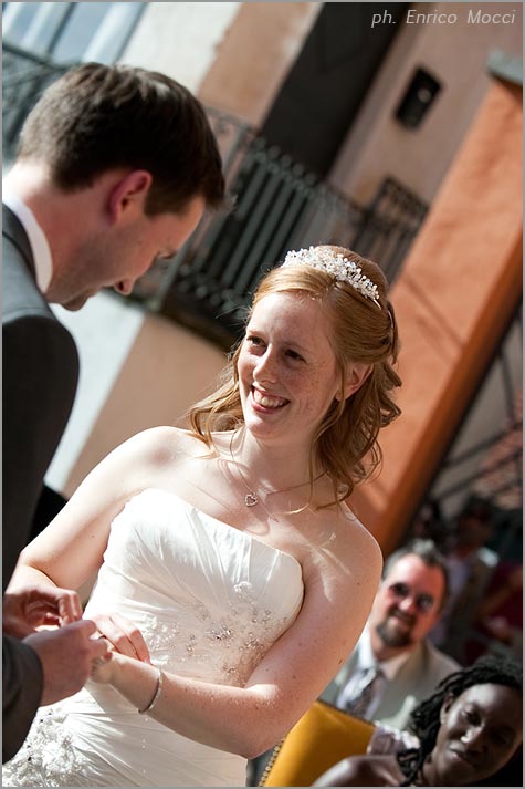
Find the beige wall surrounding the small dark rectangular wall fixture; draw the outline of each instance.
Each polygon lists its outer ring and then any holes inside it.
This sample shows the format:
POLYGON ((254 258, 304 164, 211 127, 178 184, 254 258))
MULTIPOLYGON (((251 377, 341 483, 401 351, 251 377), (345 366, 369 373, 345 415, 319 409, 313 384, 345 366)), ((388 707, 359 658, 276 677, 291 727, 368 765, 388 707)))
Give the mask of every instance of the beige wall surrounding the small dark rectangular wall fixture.
POLYGON ((367 204, 387 176, 398 178, 431 201, 486 94, 486 70, 494 49, 522 54, 519 3, 416 3, 420 13, 458 15, 455 23, 403 24, 376 77, 357 122, 349 129, 329 180, 367 204), (469 24, 469 9, 512 13, 510 24, 469 24), (429 71, 442 89, 417 129, 393 114, 417 68, 429 71))

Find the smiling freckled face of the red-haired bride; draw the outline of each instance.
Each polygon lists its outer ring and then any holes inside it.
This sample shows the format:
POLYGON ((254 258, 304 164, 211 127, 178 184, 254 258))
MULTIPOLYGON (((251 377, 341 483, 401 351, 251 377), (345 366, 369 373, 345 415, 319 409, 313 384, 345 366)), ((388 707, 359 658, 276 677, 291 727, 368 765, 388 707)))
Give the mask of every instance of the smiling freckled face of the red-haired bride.
POLYGON ((322 304, 306 294, 272 293, 256 304, 238 362, 254 435, 312 438, 339 391, 330 330, 322 304))

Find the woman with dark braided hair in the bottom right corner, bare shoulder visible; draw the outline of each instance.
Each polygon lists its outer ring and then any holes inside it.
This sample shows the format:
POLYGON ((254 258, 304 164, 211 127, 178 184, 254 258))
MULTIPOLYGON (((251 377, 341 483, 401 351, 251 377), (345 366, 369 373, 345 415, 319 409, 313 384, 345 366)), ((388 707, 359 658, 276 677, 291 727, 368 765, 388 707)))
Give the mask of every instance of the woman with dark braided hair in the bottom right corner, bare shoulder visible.
POLYGON ((481 786, 522 743, 522 687, 519 664, 481 657, 443 679, 412 710, 410 729, 419 747, 349 757, 314 786, 481 786))

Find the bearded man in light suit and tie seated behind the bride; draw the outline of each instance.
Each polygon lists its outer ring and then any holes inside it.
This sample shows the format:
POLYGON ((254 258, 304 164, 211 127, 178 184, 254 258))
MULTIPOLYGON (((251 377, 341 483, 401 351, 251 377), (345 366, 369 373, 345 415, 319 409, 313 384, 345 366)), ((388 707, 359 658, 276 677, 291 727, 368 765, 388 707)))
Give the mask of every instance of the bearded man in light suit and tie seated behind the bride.
POLYGON ((427 639, 447 594, 445 560, 432 540, 414 539, 392 553, 361 637, 323 700, 406 728, 411 710, 459 668, 427 639))

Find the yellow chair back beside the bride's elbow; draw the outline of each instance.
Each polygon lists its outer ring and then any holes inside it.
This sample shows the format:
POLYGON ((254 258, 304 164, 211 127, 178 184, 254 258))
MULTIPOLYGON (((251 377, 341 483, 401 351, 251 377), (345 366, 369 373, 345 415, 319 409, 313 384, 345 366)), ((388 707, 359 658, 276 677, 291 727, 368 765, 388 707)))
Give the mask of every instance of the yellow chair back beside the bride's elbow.
POLYGON ((346 756, 366 754, 374 724, 317 700, 277 745, 259 786, 309 787, 346 756))

